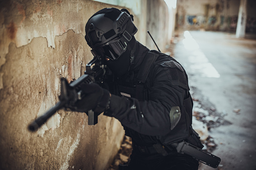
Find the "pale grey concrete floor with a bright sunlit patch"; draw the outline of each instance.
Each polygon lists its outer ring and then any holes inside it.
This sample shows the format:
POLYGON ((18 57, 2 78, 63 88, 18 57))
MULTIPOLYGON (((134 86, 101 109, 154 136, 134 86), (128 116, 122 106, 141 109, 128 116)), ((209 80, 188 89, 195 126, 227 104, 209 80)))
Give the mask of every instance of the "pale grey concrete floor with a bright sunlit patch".
POLYGON ((217 144, 212 153, 221 158, 218 169, 256 169, 256 40, 219 32, 185 36, 178 38, 174 57, 186 69, 190 86, 200 91, 196 97, 228 122, 209 131, 217 144))

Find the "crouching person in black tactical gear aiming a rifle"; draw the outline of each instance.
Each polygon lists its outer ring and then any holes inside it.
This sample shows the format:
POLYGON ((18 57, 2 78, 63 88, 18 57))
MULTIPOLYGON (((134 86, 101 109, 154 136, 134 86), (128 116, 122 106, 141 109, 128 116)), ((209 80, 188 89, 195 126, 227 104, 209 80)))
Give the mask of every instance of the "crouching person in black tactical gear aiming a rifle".
POLYGON ((86 24, 86 41, 111 73, 103 86, 87 84, 78 110, 115 117, 132 138, 126 169, 198 169, 192 156, 178 153, 186 141, 202 148, 192 128, 188 76, 174 58, 136 41, 137 28, 126 9, 106 8, 86 24))

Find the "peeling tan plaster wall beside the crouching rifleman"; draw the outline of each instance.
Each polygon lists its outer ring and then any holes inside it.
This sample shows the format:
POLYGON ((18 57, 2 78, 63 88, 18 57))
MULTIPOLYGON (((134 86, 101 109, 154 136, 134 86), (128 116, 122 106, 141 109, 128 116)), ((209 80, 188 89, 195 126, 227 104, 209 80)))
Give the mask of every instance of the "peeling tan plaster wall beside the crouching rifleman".
MULTIPOLYGON (((61 77, 71 81, 83 74, 93 58, 84 40, 86 22, 113 5, 89 0, 0 3, 0 169, 106 169, 124 135, 116 119, 100 115, 99 123, 89 126, 86 114, 59 110, 37 132, 27 126, 56 104, 61 77)), ((141 4, 136 38, 147 45, 147 1, 141 4)), ((159 33, 165 27, 160 22, 150 29, 156 40, 155 35, 165 34, 159 33)))

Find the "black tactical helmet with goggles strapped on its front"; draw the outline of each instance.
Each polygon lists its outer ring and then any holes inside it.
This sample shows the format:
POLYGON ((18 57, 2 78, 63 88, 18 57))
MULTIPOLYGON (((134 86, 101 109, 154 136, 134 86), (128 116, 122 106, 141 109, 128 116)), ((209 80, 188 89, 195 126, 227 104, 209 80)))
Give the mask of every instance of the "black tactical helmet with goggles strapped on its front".
POLYGON ((85 38, 94 56, 116 60, 137 31, 133 16, 126 9, 105 8, 88 20, 85 38))

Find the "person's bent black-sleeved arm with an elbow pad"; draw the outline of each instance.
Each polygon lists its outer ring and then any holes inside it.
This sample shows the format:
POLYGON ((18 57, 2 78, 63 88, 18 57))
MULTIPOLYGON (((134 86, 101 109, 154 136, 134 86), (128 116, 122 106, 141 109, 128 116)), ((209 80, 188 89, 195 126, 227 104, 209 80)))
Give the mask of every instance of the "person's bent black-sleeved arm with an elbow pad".
POLYGON ((176 68, 160 67, 154 72, 149 101, 112 95, 110 108, 104 114, 142 134, 167 134, 171 127, 170 110, 174 106, 182 107, 185 94, 184 88, 173 85, 173 69, 176 68))

